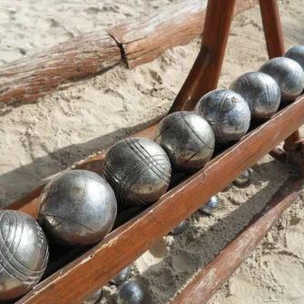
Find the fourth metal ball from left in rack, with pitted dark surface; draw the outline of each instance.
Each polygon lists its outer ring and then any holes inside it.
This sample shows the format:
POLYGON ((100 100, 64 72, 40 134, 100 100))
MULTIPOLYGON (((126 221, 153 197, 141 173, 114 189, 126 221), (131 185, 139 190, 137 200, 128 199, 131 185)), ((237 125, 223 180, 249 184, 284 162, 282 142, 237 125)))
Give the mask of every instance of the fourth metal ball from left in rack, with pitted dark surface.
POLYGON ((167 152, 177 171, 201 169, 211 160, 215 139, 211 125, 190 112, 171 113, 158 124, 154 141, 167 152))

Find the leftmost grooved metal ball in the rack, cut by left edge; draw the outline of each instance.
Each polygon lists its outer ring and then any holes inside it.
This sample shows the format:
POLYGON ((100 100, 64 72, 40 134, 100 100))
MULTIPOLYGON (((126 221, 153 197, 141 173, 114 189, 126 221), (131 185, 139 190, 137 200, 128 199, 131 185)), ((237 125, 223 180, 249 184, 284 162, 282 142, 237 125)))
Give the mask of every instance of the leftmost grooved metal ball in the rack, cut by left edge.
POLYGON ((48 243, 37 221, 21 211, 0 211, 0 302, 34 288, 48 263, 48 243))

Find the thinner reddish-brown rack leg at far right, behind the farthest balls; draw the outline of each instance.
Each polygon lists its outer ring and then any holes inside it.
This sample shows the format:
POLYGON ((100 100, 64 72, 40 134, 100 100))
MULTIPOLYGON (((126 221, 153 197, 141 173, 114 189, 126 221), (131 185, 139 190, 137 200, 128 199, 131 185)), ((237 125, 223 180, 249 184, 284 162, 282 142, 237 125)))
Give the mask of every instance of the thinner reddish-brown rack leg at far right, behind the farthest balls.
MULTIPOLYGON (((260 15, 269 57, 282 56, 285 53, 285 47, 279 18, 278 0, 260 0, 260 15)), ((299 147, 299 143, 297 143, 299 140, 299 130, 297 130, 285 140, 284 149, 295 151, 299 147)))

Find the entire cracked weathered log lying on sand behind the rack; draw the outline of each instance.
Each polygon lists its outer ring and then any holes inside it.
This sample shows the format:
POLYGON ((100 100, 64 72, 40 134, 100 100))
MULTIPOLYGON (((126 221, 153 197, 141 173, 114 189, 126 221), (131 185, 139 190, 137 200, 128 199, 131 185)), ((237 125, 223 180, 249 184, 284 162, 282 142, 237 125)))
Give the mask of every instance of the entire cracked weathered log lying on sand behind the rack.
MULTIPOLYGON (((235 15, 258 0, 236 3, 235 15)), ((205 14, 201 0, 167 5, 127 24, 84 34, 1 66, 0 109, 5 104, 34 103, 64 83, 102 73, 122 60, 130 68, 151 62, 165 50, 200 36, 205 14)))

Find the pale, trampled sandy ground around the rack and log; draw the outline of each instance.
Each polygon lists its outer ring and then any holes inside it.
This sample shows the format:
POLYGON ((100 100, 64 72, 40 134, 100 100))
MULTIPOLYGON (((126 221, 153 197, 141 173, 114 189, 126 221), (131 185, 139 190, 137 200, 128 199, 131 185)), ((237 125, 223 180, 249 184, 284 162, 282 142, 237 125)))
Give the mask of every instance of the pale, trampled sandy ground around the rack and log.
MULTIPOLYGON (((0 3, 0 64, 70 37, 118 24, 177 1, 8 1, 0 3)), ((286 47, 304 43, 303 0, 280 1, 286 47)), ((170 107, 189 73, 200 41, 167 51, 132 71, 123 66, 22 105, 0 120, 0 204, 6 205, 74 162, 110 146, 170 107), (172 75, 174 75, 172 77, 172 75)), ((259 7, 235 18, 219 86, 256 71, 267 60, 259 7)), ((269 156, 251 168, 246 189, 219 193, 212 217, 196 212, 191 228, 167 236, 133 264, 153 303, 166 303, 260 211, 289 176, 269 156)), ((270 230, 211 304, 304 303, 304 192, 270 230)), ((104 303, 113 302, 112 287, 104 303)))

